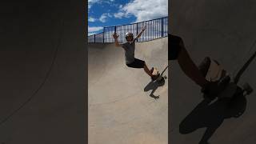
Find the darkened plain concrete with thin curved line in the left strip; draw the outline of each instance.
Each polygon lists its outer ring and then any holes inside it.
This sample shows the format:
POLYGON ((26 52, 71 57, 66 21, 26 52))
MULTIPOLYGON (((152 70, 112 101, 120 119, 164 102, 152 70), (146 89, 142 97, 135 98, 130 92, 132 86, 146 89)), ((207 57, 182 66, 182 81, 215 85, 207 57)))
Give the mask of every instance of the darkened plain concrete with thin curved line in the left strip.
POLYGON ((85 143, 83 3, 0 7, 0 143, 85 143))

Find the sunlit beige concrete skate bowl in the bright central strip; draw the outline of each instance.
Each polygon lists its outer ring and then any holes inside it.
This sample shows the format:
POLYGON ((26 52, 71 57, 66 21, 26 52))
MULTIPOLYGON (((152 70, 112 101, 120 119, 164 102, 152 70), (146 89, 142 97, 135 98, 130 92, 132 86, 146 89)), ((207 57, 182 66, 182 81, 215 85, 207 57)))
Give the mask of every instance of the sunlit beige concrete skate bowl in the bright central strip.
MULTIPOLYGON (((159 38, 137 42, 135 57, 161 72, 167 52, 167 38, 159 38)), ((128 68, 114 43, 90 43, 88 57, 89 143, 166 144, 168 79, 159 85, 143 69, 128 68)))

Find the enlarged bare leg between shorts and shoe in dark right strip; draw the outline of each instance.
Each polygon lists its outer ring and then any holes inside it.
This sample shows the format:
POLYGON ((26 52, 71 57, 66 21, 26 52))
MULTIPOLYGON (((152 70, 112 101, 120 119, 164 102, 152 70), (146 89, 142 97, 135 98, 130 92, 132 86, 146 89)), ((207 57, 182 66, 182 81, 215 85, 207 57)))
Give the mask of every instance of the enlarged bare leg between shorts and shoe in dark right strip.
POLYGON ((201 72, 198 70, 198 66, 194 64, 184 46, 182 46, 178 54, 178 64, 181 66, 182 71, 199 86, 204 87, 209 83, 206 78, 202 76, 201 72))

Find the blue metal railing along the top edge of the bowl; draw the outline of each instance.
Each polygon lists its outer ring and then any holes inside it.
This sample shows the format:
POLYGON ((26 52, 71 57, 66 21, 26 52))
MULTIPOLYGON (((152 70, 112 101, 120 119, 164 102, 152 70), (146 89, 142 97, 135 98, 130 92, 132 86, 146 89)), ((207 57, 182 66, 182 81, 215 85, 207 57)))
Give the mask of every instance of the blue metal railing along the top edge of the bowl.
POLYGON ((138 42, 151 41, 168 35, 168 17, 164 17, 128 25, 104 27, 102 33, 88 36, 88 42, 114 42, 114 38, 112 37, 114 32, 119 35, 118 42, 126 42, 126 32, 131 32, 135 36, 142 30, 143 26, 146 26, 146 30, 138 38, 138 42))

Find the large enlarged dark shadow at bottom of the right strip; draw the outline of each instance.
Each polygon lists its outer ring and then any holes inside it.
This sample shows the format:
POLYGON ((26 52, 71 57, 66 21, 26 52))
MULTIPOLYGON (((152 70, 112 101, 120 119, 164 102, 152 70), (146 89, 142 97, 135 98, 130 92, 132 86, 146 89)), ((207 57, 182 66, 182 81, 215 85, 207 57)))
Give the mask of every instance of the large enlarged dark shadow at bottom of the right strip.
POLYGON ((238 118, 244 113, 246 103, 246 97, 243 94, 238 94, 232 99, 216 100, 215 102, 203 99, 182 120, 179 125, 179 132, 190 134, 199 128, 206 127, 206 131, 198 143, 207 144, 210 137, 226 118, 238 118))

